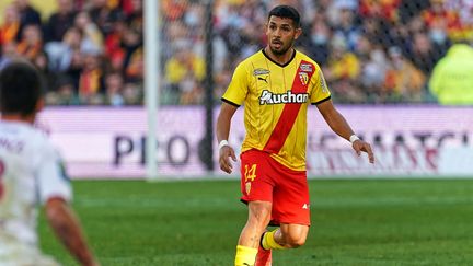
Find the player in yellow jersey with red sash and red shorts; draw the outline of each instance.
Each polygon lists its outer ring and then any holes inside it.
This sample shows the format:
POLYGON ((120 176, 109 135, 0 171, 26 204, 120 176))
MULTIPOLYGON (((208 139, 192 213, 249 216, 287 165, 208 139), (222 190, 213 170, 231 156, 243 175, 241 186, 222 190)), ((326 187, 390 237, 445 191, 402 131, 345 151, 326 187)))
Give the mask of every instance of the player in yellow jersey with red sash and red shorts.
POLYGON ((228 143, 230 124, 244 104, 246 136, 241 154, 242 201, 249 218, 238 246, 235 265, 270 265, 272 250, 304 244, 310 227, 305 174, 307 108, 313 104, 334 132, 351 142, 359 155, 374 155, 335 109, 320 67, 293 49, 300 15, 289 5, 268 14, 268 45, 242 61, 222 96, 217 120, 220 169, 232 172, 236 157, 228 143), (266 232, 268 224, 279 225, 266 232))

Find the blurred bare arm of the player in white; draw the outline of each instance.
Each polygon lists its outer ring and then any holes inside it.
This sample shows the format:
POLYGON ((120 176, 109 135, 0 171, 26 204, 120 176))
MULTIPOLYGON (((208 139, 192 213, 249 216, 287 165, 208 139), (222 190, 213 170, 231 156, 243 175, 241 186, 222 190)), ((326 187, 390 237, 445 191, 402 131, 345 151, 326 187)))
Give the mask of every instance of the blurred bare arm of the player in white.
POLYGON ((48 199, 46 203, 46 217, 56 235, 81 265, 99 265, 88 248, 76 215, 62 198, 55 197, 48 199))

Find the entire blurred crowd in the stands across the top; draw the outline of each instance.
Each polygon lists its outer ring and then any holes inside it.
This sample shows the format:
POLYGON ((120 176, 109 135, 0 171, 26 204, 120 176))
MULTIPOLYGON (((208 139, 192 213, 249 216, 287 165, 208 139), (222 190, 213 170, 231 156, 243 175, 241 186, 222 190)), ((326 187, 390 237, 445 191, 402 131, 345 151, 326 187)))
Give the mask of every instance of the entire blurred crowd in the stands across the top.
MULTIPOLYGON (((7 5, 0 68, 16 57, 31 60, 44 73, 49 104, 142 104, 142 0, 56 1, 48 18, 28 0, 7 5)), ((160 3, 160 100, 200 104, 207 1, 160 3)), ((216 102, 235 66, 265 46, 267 12, 279 3, 301 12, 297 48, 322 67, 338 103, 436 101, 429 93, 435 66, 453 44, 473 43, 473 0, 215 0, 216 102)))

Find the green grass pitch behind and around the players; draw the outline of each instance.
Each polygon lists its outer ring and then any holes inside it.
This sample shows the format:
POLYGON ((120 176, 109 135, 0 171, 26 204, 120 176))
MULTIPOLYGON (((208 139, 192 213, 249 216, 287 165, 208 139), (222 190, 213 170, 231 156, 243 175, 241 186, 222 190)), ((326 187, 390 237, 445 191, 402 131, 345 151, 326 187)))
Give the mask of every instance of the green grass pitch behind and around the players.
MULTIPOLYGON (((76 181, 103 266, 232 265, 246 218, 236 181, 76 181)), ((307 244, 274 265, 471 265, 473 180, 310 181, 307 244)), ((42 248, 77 265, 41 217, 42 248)))

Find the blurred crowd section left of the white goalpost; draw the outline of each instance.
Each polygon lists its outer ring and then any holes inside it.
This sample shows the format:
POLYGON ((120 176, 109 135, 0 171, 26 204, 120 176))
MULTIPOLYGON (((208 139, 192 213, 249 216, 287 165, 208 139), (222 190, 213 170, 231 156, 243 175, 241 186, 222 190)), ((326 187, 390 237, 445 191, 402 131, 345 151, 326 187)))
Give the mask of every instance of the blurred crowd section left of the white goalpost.
POLYGON ((142 0, 57 0, 49 18, 13 0, 3 12, 0 68, 32 61, 48 104, 142 104, 142 0))

